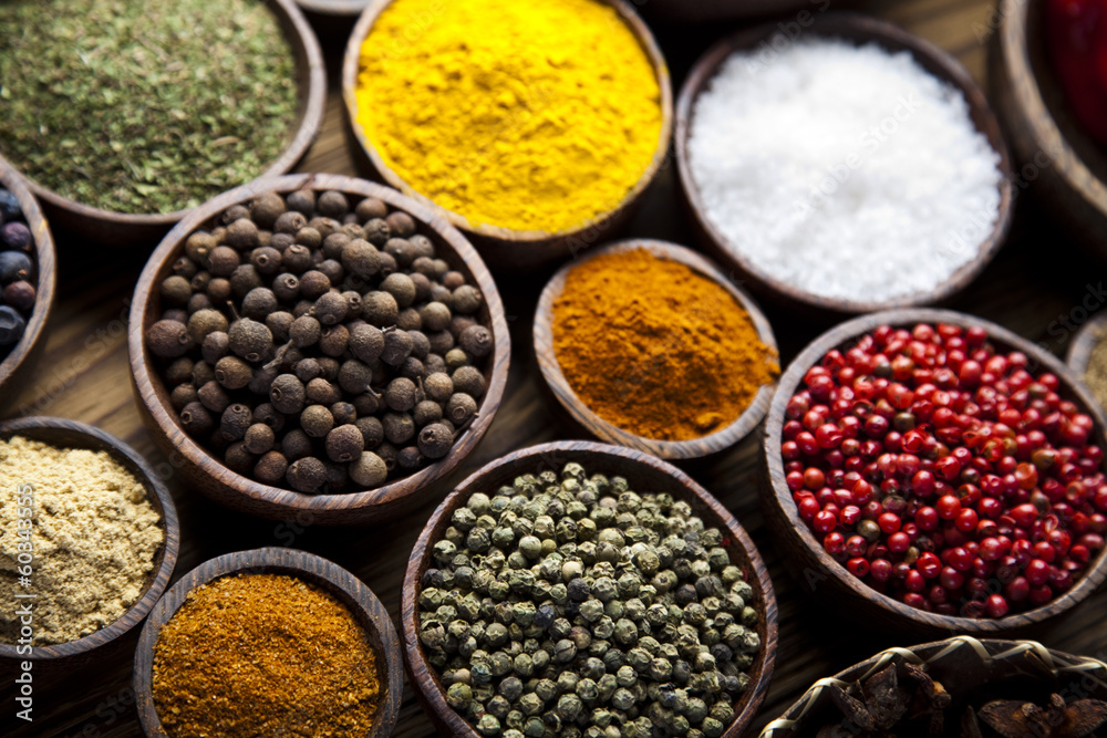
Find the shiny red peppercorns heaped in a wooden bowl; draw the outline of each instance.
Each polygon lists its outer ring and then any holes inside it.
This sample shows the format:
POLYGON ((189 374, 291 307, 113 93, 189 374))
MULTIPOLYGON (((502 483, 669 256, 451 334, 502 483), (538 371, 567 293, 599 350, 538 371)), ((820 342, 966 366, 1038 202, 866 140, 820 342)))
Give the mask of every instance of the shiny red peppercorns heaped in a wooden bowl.
POLYGON ((960 617, 1039 607, 1104 548, 1094 423, 981 328, 882 326, 823 357, 780 443, 799 517, 869 586, 960 617))

